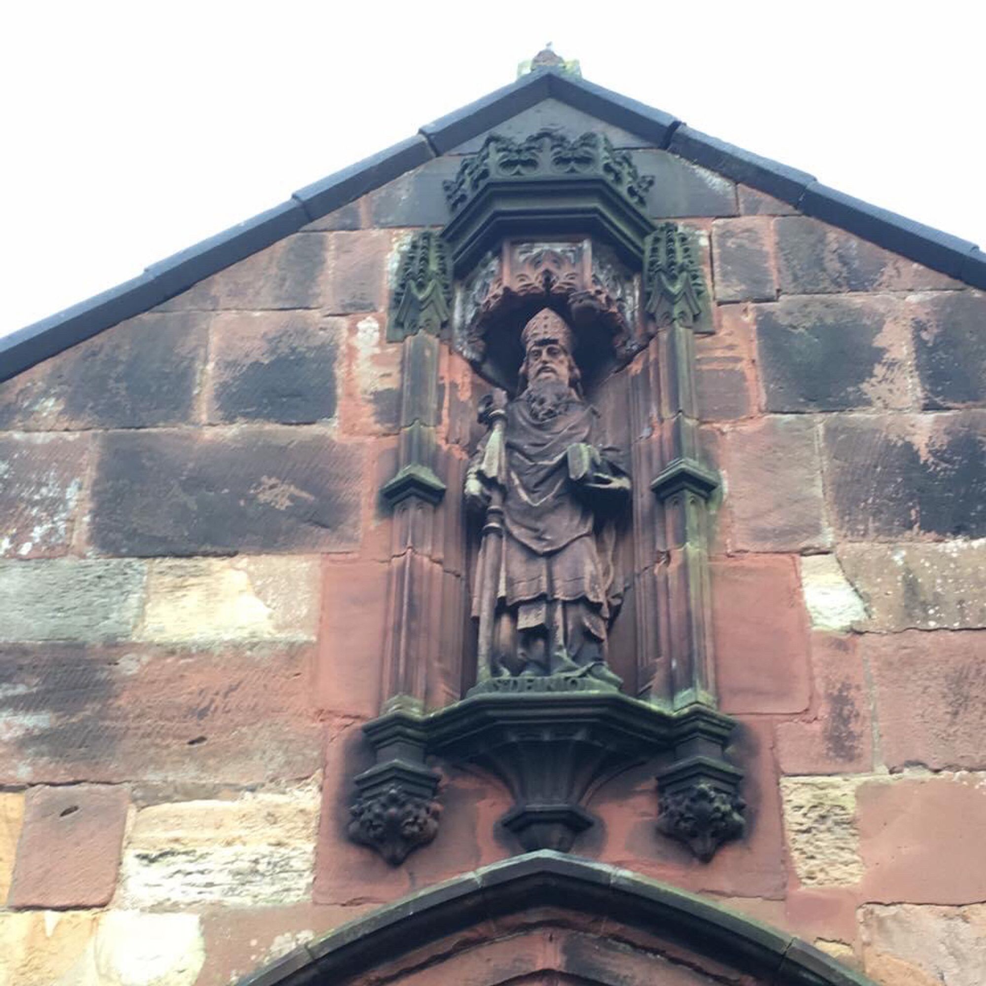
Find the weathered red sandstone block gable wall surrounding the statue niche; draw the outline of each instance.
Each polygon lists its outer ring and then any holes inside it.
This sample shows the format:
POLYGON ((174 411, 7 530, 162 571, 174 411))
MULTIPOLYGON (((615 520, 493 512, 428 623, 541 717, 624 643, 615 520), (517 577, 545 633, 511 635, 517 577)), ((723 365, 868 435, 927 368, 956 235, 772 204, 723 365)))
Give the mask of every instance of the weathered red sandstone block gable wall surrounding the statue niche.
MULTIPOLYGON (((455 771, 404 866, 345 836, 396 550, 387 279, 404 231, 445 221, 455 165, 0 386, 11 986, 225 983, 513 851, 504 792, 455 771)), ((710 251, 715 643, 751 824, 697 863, 655 833, 648 767, 599 792, 578 849, 887 986, 979 983, 986 300, 663 152, 641 166, 654 214, 710 251)), ((461 428, 469 374, 443 359, 461 428)))

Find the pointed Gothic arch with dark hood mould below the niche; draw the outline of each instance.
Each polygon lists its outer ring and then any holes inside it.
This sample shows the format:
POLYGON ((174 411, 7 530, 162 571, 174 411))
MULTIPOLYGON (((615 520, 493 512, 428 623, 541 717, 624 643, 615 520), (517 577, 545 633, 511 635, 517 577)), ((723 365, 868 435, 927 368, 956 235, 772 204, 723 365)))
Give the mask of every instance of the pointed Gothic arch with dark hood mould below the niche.
POLYGON ((404 897, 241 986, 866 986, 807 943, 691 893, 547 850, 404 897))

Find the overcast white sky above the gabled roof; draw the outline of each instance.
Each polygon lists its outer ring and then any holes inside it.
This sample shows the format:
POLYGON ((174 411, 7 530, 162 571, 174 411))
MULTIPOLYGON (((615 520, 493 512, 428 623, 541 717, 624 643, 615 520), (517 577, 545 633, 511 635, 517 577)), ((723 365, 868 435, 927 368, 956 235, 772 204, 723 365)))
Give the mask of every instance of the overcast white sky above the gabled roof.
POLYGON ((986 242, 982 0, 11 4, 0 334, 516 77, 585 78, 986 242))

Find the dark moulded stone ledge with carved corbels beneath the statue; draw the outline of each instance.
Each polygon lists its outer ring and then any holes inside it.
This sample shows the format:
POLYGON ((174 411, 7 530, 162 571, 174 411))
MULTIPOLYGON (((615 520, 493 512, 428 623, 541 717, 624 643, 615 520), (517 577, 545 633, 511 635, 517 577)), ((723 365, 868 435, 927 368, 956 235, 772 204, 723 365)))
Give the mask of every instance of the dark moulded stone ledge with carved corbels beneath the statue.
POLYGON ((356 778, 349 834, 393 865, 431 842, 440 806, 429 761, 440 757, 508 787, 514 808, 500 824, 525 852, 568 852, 595 824, 584 803, 600 784, 670 754, 657 828, 705 862, 743 834, 742 773, 724 756, 734 725, 708 705, 671 710, 585 674, 491 679, 444 709, 394 708, 363 727, 377 764, 356 778))

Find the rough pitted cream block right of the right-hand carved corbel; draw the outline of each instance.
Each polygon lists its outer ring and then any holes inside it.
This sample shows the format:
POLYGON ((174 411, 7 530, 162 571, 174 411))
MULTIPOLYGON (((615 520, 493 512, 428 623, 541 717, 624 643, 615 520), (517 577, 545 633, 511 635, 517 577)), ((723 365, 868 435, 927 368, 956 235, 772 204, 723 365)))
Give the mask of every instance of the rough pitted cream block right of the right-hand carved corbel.
POLYGON ((806 886, 858 883, 864 875, 856 828, 856 787, 845 777, 782 777, 784 827, 806 886))

